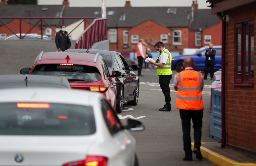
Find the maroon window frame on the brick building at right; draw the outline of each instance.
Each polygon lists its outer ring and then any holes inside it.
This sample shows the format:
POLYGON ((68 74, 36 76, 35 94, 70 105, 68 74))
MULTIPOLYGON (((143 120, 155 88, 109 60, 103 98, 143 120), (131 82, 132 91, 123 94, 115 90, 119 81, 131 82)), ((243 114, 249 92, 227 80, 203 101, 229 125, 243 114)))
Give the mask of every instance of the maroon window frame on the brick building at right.
MULTIPOLYGON (((253 25, 254 28, 254 20, 248 20, 244 22, 240 22, 235 24, 235 67, 234 67, 234 86, 254 86, 254 77, 251 78, 251 38, 250 38, 250 25, 253 25), (244 28, 245 25, 248 25, 246 28, 248 30, 248 78, 245 80, 245 72, 246 72, 246 29, 244 28), (238 78, 238 32, 241 30, 241 76, 238 78)), ((254 31, 253 31, 254 33, 254 31)), ((253 34, 254 36, 254 34, 253 34)), ((255 41, 254 41, 255 43, 255 41)), ((254 46, 253 43, 253 46, 254 46)), ((255 47, 255 46, 254 46, 255 47)), ((253 55, 255 53, 255 49, 253 50, 253 55)), ((253 66, 254 68, 254 66, 253 66)), ((253 69, 254 70, 254 69, 253 69)))

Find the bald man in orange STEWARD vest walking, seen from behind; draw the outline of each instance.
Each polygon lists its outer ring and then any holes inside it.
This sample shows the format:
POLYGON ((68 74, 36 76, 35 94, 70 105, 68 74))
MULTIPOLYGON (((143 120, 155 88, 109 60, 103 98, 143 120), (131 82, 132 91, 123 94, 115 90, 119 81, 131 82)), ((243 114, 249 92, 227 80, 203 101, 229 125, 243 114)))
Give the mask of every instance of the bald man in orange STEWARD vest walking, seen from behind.
POLYGON ((192 152, 196 158, 202 160, 201 135, 202 135, 202 118, 203 118, 203 75, 193 70, 195 65, 194 59, 187 56, 183 60, 184 71, 174 76, 174 89, 178 90, 176 98, 176 107, 179 109, 181 116, 183 132, 183 149, 185 156, 183 160, 193 161, 192 152), (193 121, 194 128, 194 151, 191 150, 190 138, 190 121, 193 121))

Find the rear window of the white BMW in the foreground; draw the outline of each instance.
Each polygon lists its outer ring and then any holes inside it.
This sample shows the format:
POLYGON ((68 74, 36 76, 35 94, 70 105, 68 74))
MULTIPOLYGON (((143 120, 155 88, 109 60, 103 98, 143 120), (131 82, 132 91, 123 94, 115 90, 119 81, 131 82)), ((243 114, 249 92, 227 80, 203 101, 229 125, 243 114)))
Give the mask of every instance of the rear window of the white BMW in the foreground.
POLYGON ((0 135, 76 136, 95 133, 91 106, 0 103, 0 135))

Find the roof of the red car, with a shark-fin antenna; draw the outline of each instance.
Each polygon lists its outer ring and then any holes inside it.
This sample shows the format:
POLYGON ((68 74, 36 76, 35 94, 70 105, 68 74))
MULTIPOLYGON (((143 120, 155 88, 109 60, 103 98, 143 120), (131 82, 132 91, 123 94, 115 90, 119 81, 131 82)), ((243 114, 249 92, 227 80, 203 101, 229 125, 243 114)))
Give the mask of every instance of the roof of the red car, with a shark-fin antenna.
MULTIPOLYGON (((44 60, 64 60, 67 62, 67 59, 66 59, 67 56, 70 58, 69 59, 70 61, 77 60, 77 61, 94 62, 94 58, 96 55, 83 54, 83 53, 50 52, 50 53, 42 54, 41 62, 44 60)), ((66 62, 61 62, 61 63, 66 63, 66 62)))

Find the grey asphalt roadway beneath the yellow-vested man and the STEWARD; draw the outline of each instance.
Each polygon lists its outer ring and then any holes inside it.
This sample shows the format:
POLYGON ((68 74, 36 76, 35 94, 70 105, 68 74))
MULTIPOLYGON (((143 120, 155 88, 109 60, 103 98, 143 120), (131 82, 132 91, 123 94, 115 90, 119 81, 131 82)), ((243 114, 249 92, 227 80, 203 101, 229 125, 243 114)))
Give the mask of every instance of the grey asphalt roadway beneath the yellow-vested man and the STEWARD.
MULTIPOLYGON (((173 76, 175 75, 173 72, 173 76)), ((154 69, 149 72, 142 70, 140 77, 139 101, 137 106, 124 105, 122 113, 118 114, 123 124, 133 116, 145 125, 142 132, 131 132, 137 141, 137 156, 141 166, 169 166, 169 165, 213 165, 203 159, 198 160, 193 154, 193 162, 182 161, 183 151, 182 126, 179 110, 176 108, 176 94, 171 79, 171 111, 160 112, 159 108, 165 104, 165 98, 158 84, 159 77, 154 69)), ((216 142, 209 137, 210 117, 210 85, 211 80, 205 81, 203 89, 204 117, 201 142, 216 142)), ((132 118, 133 118, 132 117, 132 118)), ((192 121, 191 121, 192 123, 192 121)), ((193 142, 193 128, 191 125, 191 141, 193 142)))

